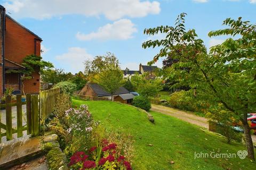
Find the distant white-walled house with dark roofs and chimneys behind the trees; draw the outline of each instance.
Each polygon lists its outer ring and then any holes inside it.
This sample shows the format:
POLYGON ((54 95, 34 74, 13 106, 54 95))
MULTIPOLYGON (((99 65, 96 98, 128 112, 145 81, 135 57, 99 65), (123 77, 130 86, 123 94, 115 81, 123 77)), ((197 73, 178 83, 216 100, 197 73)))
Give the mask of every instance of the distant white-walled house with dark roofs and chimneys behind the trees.
POLYGON ((138 74, 148 73, 149 74, 149 78, 155 78, 154 71, 157 68, 158 68, 157 66, 142 65, 140 63, 138 71, 129 70, 127 67, 126 67, 125 70, 122 70, 122 71, 124 73, 124 78, 132 77, 136 73, 138 73, 138 74))

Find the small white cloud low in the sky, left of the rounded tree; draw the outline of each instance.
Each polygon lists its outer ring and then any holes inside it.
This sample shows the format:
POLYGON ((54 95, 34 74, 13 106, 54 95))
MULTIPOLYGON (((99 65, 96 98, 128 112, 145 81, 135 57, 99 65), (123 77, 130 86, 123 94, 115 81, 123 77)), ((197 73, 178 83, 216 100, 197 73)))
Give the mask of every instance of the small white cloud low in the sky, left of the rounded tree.
POLYGON ((56 60, 66 68, 65 71, 78 73, 84 70, 84 61, 92 60, 93 56, 86 52, 85 48, 70 47, 68 52, 55 57, 56 60))

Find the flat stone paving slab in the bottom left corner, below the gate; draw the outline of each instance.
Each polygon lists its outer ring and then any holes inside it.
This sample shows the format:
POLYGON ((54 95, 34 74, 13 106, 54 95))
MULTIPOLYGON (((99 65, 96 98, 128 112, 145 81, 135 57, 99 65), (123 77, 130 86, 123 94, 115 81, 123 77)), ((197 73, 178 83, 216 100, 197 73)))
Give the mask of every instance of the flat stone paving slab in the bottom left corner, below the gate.
POLYGON ((0 169, 25 163, 43 153, 39 138, 26 136, 7 141, 0 145, 0 169))

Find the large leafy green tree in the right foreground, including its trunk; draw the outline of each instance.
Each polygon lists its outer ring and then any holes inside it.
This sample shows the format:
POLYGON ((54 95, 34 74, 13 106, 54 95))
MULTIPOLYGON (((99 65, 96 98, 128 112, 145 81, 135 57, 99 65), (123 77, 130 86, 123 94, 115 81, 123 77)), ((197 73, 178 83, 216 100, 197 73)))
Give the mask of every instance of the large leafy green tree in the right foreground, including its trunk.
MULTIPOLYGON (((238 39, 228 38, 221 45, 211 48, 210 53, 197 38, 194 29, 185 29, 185 13, 181 13, 174 27, 161 26, 145 29, 147 35, 158 32, 166 33, 162 40, 149 40, 143 48, 162 47, 154 60, 171 56, 179 62, 173 63, 167 77, 178 81, 173 86, 197 88, 204 100, 212 107, 219 104, 227 111, 234 113, 243 122, 247 152, 255 160, 250 126, 247 113, 256 110, 256 25, 249 21, 226 19, 223 24, 229 28, 211 31, 209 36, 240 35, 238 39), (189 67, 189 71, 180 67, 189 67)), ((227 112, 228 113, 228 112, 227 112)))

